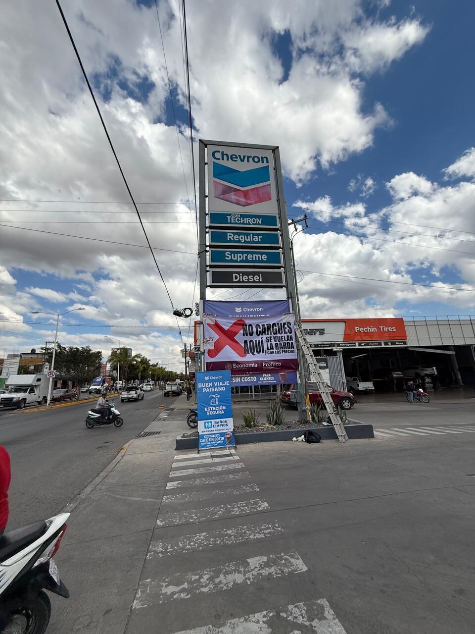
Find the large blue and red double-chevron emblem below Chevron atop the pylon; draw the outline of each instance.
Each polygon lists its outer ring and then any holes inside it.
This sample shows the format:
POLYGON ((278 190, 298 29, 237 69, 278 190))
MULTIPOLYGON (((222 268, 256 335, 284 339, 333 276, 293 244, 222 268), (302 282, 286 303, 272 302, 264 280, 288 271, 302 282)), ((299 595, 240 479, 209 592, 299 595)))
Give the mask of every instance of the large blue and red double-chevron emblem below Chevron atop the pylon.
POLYGON ((269 165, 239 171, 213 161, 213 193, 240 207, 267 202, 271 199, 269 165))

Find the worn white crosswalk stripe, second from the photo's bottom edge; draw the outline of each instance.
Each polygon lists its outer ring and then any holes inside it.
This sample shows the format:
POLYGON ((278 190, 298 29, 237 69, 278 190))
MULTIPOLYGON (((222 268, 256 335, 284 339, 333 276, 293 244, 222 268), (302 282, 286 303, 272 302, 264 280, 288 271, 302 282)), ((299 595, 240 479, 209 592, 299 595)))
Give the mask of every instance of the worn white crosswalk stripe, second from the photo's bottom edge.
MULTIPOLYGON (((195 573, 178 573, 158 581, 144 579, 139 583, 134 609, 189 598, 193 595, 229 590, 243 583, 271 579, 289 574, 305 573, 307 566, 295 550, 279 555, 262 555, 241 561, 228 562, 224 566, 208 568, 195 573)), ((258 630, 257 630, 258 631, 258 630)), ((264 630, 265 631, 265 630, 264 630)))

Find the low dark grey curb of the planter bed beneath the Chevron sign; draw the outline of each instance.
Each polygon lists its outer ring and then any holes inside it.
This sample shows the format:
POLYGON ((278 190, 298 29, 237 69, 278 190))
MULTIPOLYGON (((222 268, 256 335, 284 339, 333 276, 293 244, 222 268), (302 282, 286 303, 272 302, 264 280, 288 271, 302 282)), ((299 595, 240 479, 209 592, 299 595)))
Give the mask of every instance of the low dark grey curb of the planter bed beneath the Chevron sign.
MULTIPOLYGON (((314 430, 322 440, 338 440, 333 427, 316 427, 314 430)), ((236 434, 236 444, 249 443, 274 443, 277 441, 292 440, 294 436, 301 436, 308 429, 285 429, 279 432, 255 432, 251 434, 236 434)), ((372 425, 345 425, 348 439, 356 440, 362 438, 374 438, 372 425)), ((175 450, 198 449, 198 438, 182 438, 177 436, 175 450)))

